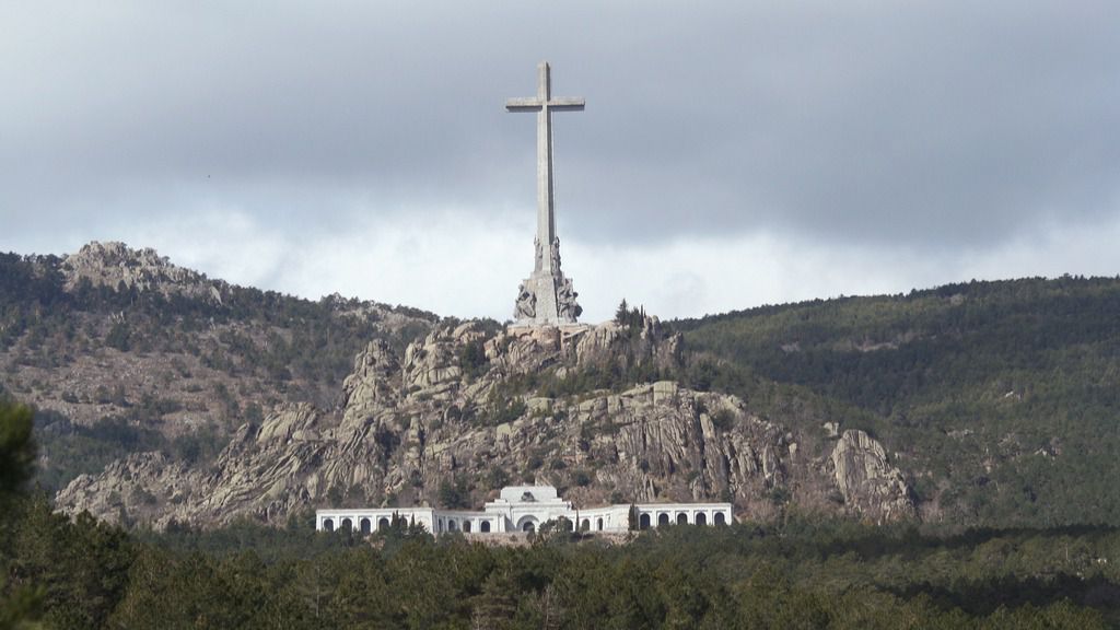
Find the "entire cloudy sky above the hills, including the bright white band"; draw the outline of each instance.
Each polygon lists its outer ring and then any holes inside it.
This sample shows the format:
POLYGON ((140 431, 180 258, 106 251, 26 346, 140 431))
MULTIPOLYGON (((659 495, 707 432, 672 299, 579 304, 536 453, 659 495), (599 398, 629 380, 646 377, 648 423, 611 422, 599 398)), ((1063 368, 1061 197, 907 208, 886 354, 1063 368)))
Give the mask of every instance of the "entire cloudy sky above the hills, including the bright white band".
POLYGON ((1120 274, 1120 3, 0 0, 0 250, 505 319, 1120 274))

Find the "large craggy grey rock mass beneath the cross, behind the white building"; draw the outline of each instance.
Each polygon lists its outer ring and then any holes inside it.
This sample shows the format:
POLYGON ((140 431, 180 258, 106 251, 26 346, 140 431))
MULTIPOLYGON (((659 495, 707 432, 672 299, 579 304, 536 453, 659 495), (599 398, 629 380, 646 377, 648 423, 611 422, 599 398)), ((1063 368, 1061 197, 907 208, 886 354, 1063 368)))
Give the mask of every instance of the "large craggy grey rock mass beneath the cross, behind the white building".
POLYGON ((438 503, 448 483, 480 503, 521 482, 557 485, 579 506, 731 500, 740 516, 767 518, 775 497, 839 487, 857 513, 913 513, 902 475, 861 433, 837 445, 833 475, 734 396, 673 381, 622 391, 594 381, 679 364, 680 337, 650 317, 496 334, 476 322, 444 326, 403 355, 371 343, 340 408, 281 405, 260 426, 242 426, 205 470, 137 455, 78 478, 58 501, 103 518, 206 526, 241 516, 282 522, 326 506, 438 503))

